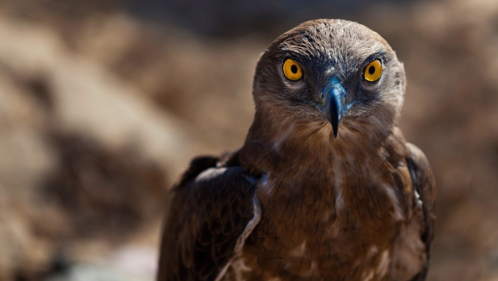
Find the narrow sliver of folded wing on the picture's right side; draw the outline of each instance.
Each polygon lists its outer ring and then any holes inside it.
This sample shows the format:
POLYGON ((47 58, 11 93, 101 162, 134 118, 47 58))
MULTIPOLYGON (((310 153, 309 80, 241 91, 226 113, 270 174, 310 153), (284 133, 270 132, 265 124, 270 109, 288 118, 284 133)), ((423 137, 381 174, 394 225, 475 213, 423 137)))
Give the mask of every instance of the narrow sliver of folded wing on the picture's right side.
POLYGON ((429 161, 425 157, 424 152, 417 146, 407 143, 410 151, 410 156, 406 159, 413 188, 417 191, 419 200, 422 201, 422 210, 424 215, 424 230, 422 232, 422 242, 424 242, 427 251, 427 262, 424 270, 416 275, 412 281, 423 281, 429 270, 430 247, 434 236, 434 221, 436 219, 436 184, 434 174, 429 165, 429 161))

